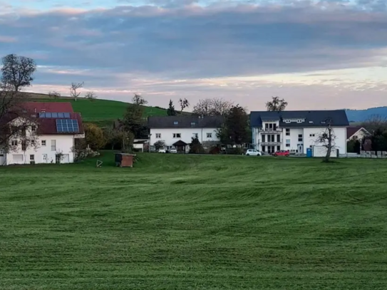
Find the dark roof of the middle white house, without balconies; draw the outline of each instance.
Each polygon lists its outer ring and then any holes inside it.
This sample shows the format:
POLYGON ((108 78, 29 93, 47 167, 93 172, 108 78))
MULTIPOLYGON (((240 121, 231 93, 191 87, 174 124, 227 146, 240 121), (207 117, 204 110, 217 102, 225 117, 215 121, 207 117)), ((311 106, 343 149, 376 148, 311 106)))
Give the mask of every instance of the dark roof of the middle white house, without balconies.
POLYGON ((163 128, 220 128, 225 118, 223 116, 180 115, 148 117, 148 127, 163 128))

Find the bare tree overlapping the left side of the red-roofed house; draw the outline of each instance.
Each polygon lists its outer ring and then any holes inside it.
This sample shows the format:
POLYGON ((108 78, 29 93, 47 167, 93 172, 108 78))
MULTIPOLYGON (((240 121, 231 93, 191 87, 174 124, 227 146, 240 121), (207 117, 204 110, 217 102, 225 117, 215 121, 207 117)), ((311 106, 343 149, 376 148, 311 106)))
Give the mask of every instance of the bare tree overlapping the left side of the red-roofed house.
POLYGON ((25 94, 14 90, 12 84, 0 83, 0 150, 26 151, 36 147, 38 124, 33 112, 23 107, 25 94))

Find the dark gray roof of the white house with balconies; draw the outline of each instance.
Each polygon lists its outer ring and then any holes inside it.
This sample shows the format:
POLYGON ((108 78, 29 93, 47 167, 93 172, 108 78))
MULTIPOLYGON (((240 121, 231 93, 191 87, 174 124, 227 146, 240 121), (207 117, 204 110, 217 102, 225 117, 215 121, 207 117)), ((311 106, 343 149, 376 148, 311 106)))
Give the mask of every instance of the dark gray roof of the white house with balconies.
POLYGON ((250 126, 252 128, 261 128, 262 120, 277 120, 279 119, 279 127, 294 128, 294 127, 325 127, 326 124, 321 123, 328 119, 331 124, 337 127, 349 126, 346 118, 345 110, 284 110, 282 112, 260 111, 250 113, 250 126), (303 123, 284 123, 287 118, 304 118, 303 123))

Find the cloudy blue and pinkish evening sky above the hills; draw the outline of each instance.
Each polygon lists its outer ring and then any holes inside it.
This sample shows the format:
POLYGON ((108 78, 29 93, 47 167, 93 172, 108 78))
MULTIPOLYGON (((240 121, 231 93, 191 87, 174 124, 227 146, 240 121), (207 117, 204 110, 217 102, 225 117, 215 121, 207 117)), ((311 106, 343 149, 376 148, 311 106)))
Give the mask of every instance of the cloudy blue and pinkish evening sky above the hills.
POLYGON ((387 105, 386 0, 0 0, 0 56, 33 58, 28 90, 167 107, 387 105), (10 4, 12 3, 12 4, 10 4))

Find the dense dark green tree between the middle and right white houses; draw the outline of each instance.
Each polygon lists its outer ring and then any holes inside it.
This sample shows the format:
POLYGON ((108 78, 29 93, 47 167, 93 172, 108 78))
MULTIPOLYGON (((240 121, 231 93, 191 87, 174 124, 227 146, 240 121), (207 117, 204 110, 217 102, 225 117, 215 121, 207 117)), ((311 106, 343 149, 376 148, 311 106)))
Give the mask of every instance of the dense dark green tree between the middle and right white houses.
POLYGON ((234 105, 225 116, 225 123, 217 131, 217 137, 224 144, 239 145, 249 140, 249 116, 246 110, 234 105))

